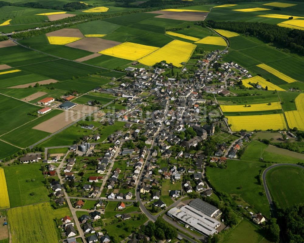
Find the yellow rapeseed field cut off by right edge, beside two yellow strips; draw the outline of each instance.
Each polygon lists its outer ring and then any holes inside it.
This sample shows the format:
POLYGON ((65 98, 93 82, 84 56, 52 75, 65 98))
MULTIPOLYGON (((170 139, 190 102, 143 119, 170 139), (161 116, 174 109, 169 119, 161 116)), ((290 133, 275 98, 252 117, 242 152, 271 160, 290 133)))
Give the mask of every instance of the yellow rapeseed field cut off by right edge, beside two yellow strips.
POLYGON ((297 110, 285 111, 285 116, 289 128, 297 127, 304 130, 304 94, 299 94, 295 98, 297 110))

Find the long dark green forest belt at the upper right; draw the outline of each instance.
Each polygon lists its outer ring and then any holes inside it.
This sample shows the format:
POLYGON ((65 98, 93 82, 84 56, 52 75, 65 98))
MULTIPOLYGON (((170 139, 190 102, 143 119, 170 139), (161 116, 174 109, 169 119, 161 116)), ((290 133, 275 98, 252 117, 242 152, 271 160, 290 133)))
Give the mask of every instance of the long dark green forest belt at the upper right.
POLYGON ((257 22, 216 22, 207 20, 206 24, 216 29, 230 30, 245 35, 259 37, 267 43, 277 43, 298 54, 304 55, 304 31, 285 28, 273 24, 257 22))

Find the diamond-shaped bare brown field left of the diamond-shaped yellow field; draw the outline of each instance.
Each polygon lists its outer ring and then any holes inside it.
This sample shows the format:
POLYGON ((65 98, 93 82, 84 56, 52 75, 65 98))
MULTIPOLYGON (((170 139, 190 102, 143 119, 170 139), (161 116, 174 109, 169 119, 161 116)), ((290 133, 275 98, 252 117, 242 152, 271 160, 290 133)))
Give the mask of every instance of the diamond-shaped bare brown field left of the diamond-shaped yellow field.
POLYGON ((81 50, 87 50, 91 52, 98 52, 110 47, 114 47, 121 44, 121 42, 104 40, 98 37, 88 37, 84 38, 69 44, 66 44, 68 47, 74 47, 81 50))

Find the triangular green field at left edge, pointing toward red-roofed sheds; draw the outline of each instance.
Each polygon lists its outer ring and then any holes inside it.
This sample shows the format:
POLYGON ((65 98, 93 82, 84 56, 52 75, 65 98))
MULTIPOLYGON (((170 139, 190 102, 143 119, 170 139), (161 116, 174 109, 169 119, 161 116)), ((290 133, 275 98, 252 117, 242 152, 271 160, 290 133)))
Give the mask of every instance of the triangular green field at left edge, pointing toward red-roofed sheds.
POLYGON ((38 106, 34 106, 32 104, 28 104, 1 94, 0 99, 0 135, 33 120, 35 117, 30 116, 27 113, 39 108, 38 106))

